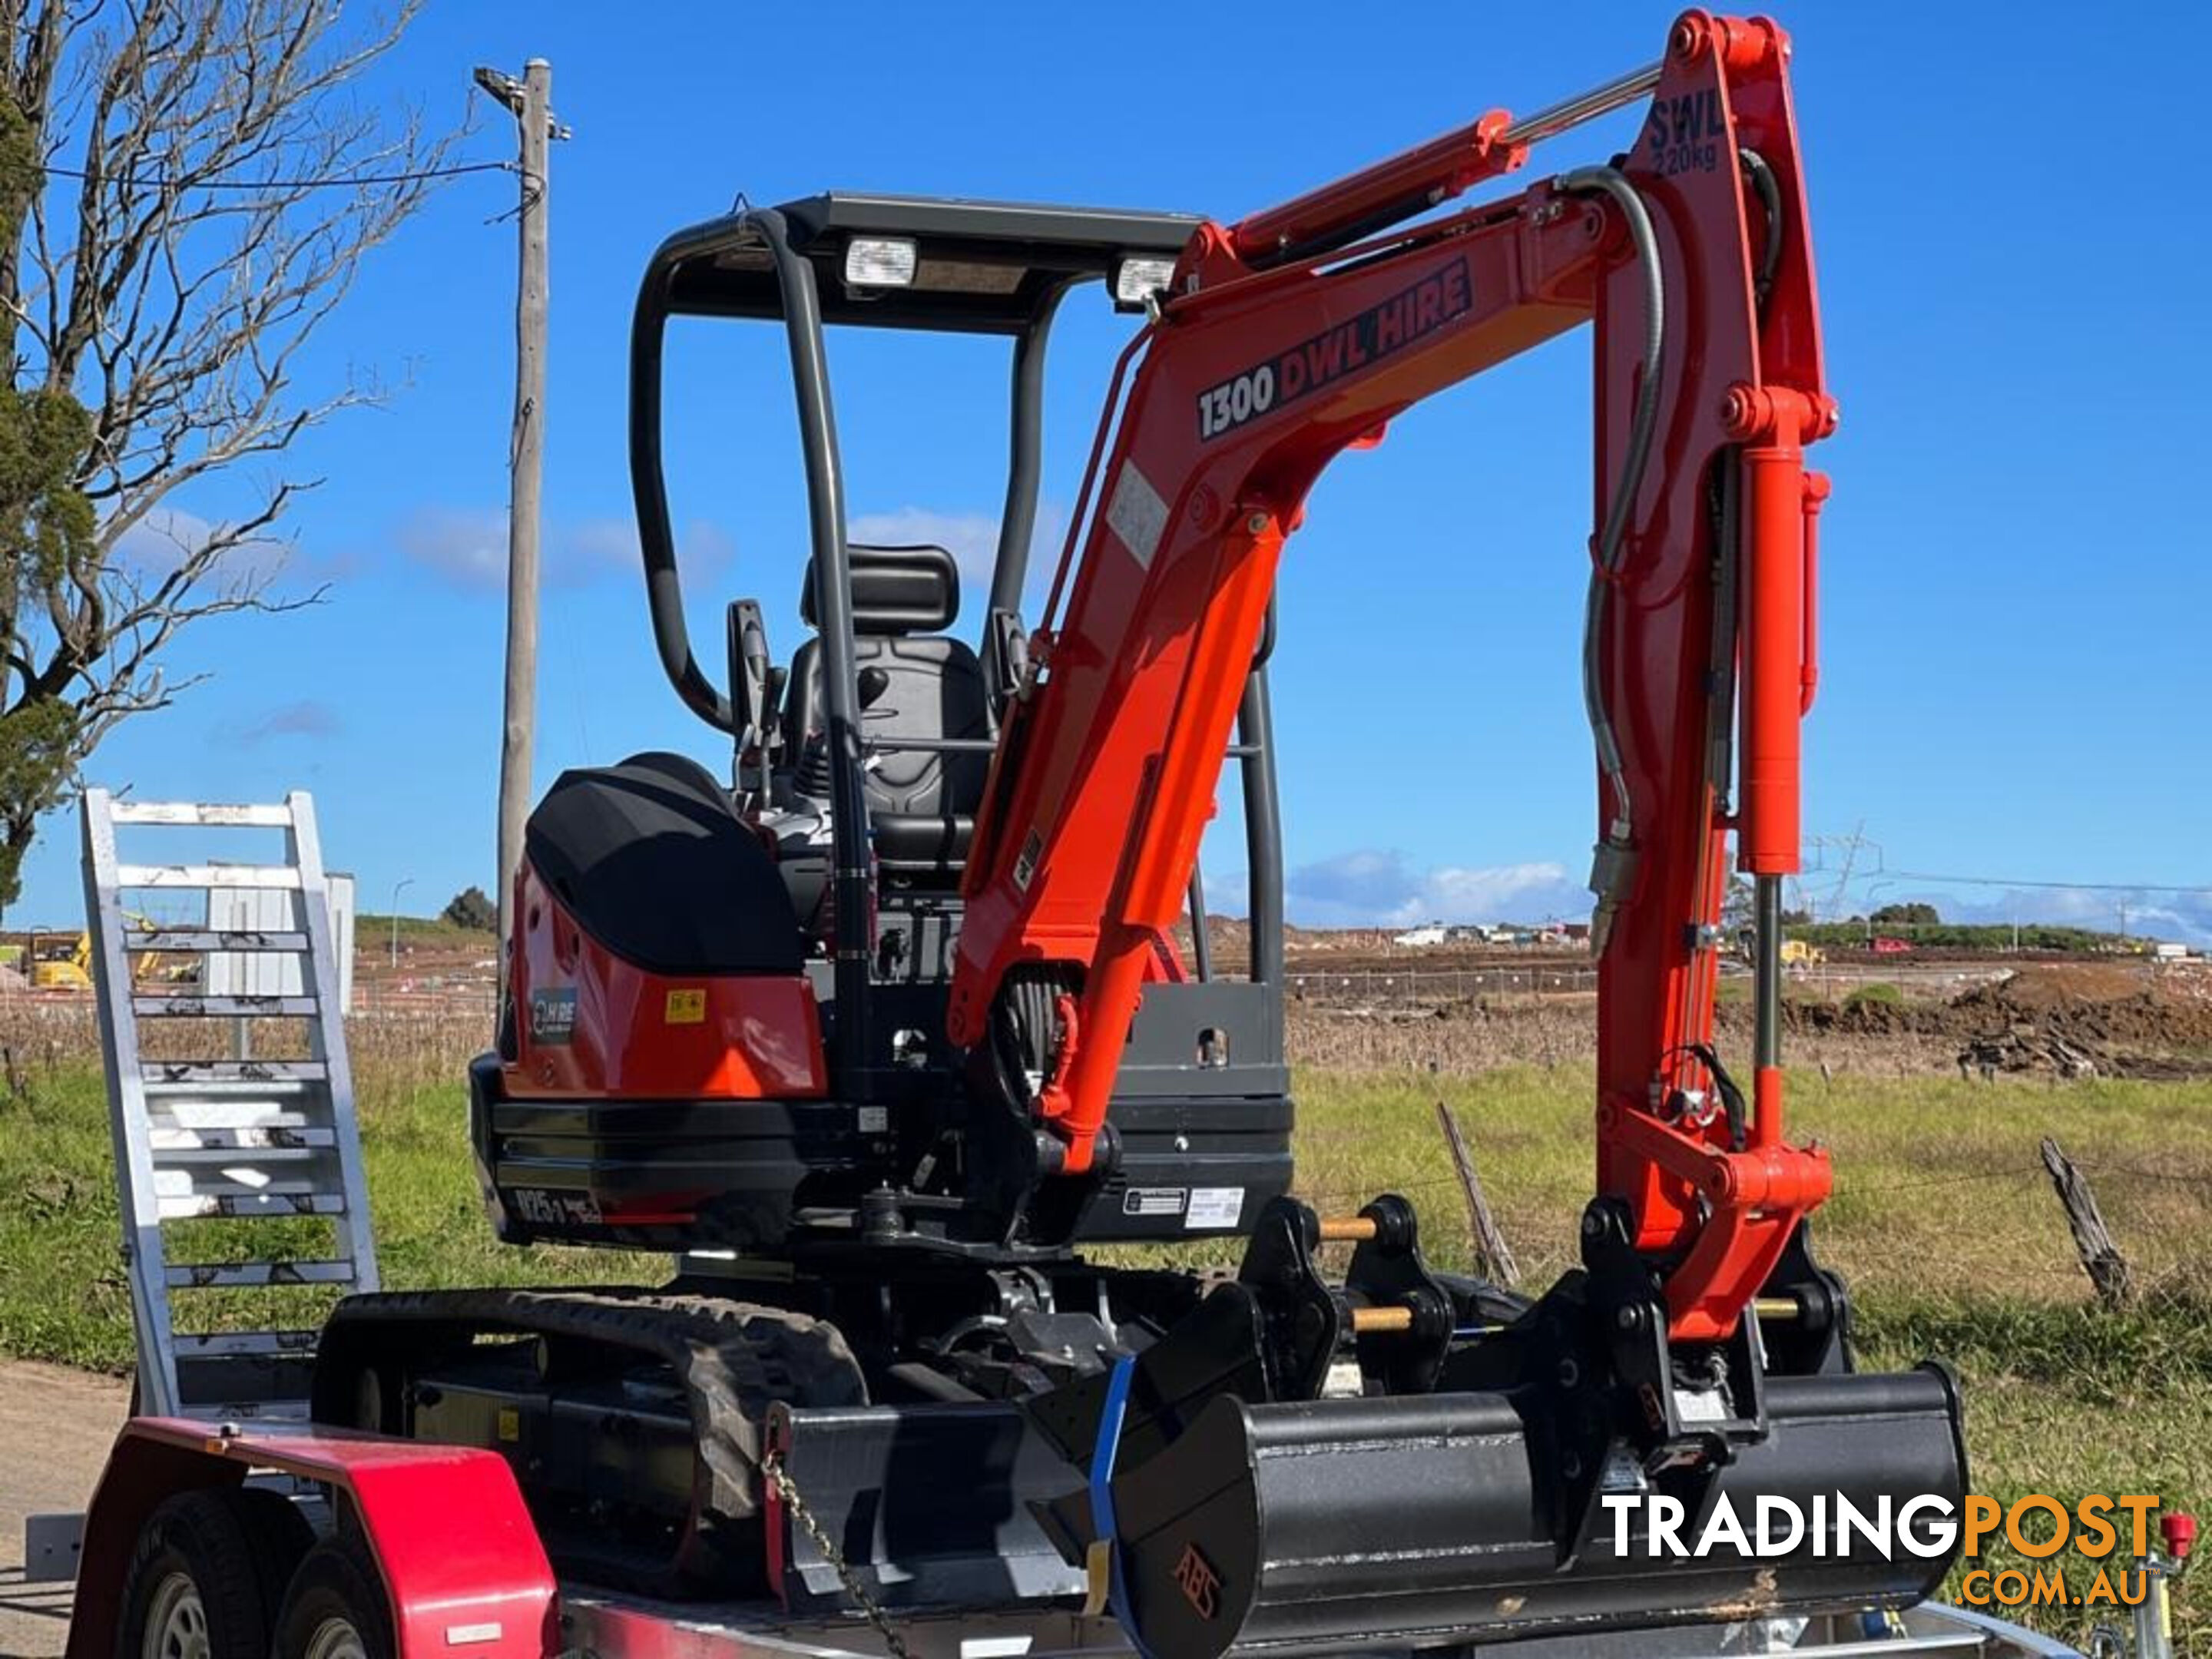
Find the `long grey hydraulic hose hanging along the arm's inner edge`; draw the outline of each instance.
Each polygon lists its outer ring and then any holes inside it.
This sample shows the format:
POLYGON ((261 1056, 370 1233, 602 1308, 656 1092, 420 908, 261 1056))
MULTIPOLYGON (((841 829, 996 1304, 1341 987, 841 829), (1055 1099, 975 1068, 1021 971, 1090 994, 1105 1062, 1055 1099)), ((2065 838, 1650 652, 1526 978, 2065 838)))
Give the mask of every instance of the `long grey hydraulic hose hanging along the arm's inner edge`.
POLYGON ((1590 869, 1590 891, 1597 894, 1597 916, 1590 927, 1593 949, 1604 953, 1606 931, 1613 911, 1628 883, 1635 849, 1635 803, 1628 794, 1628 774, 1621 765, 1619 734, 1613 730, 1613 714, 1606 708, 1604 686, 1604 624, 1608 593, 1621 571, 1628 542, 1628 520, 1644 491, 1644 469, 1650 460, 1652 436, 1659 429, 1659 376, 1666 365, 1666 281, 1659 270, 1659 237, 1652 230, 1650 210, 1644 197, 1617 168, 1575 168, 1559 177, 1559 188, 1573 195, 1604 195, 1621 210, 1628 223, 1628 241, 1644 274, 1644 363, 1637 378, 1637 405, 1628 420, 1628 453, 1621 458, 1621 476, 1613 484, 1606 515, 1597 526, 1597 542, 1590 549, 1590 597, 1582 617, 1582 703, 1590 719, 1590 739, 1597 743, 1597 768, 1606 774, 1613 794, 1613 821, 1606 838, 1597 845, 1597 860, 1590 869))

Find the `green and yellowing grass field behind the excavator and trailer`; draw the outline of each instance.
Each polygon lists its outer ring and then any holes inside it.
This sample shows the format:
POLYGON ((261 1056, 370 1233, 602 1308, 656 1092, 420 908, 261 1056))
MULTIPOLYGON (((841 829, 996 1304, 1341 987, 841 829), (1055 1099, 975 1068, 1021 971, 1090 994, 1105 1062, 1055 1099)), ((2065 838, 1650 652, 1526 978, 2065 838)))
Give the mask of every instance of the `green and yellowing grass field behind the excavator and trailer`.
MULTIPOLYGON (((504 1250, 478 1208, 458 1055, 469 1033, 356 1035, 385 1281, 617 1279, 648 1259, 504 1250)), ((73 1044, 9 1044, 0 1091, 0 1352, 119 1371, 131 1360, 106 1106, 73 1044)), ((1380 1190, 1425 1212, 1438 1265, 1469 1263, 1436 1102, 1458 1113, 1524 1285, 1571 1259, 1588 1197, 1588 1073, 1573 1064, 1431 1075, 1307 1066, 1301 1188, 1325 1212, 1380 1190)), ((1973 1489, 2152 1491, 2212 1500, 2212 1086, 1947 1079, 1798 1082, 1796 1126, 1836 1152, 1823 1259, 1851 1283, 1869 1365, 1938 1354, 1962 1371, 1973 1489), (2141 1285, 2090 1303, 2037 1164, 2055 1135, 2090 1175, 2141 1285)), ((321 1223, 268 1223, 314 1228, 321 1223)), ((1219 1254, 1219 1252, 1217 1252, 1219 1254)), ((299 1292, 303 1298, 312 1292, 299 1292)), ((312 1307, 301 1307, 312 1318, 312 1307)), ((2064 1559, 2064 1557, 2062 1557, 2064 1559)), ((2212 1595, 2201 1597, 2212 1601, 2212 1595)), ((2183 1599, 2185 1628, 2212 1617, 2183 1599)), ((2066 1615, 2039 1624, 2073 1630, 2066 1615)), ((2183 1648, 2188 1650, 2188 1648, 2183 1648)))

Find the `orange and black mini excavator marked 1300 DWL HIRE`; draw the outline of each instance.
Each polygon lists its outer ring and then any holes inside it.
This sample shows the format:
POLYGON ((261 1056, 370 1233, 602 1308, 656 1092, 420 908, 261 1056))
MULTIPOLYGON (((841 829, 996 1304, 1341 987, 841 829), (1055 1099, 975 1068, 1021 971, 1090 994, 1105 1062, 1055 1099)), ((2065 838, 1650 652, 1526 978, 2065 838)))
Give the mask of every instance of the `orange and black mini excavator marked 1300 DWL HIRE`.
POLYGON ((1783 1121, 1827 493, 1805 449, 1836 425, 1787 60, 1772 22, 1690 11, 1648 69, 1234 223, 818 195, 664 243, 630 347, 646 586, 732 770, 639 754, 546 794, 471 1130, 504 1239, 672 1252, 675 1279, 349 1298, 316 1416, 504 1453, 580 1582, 794 1613, 1095 1593, 1159 1659, 1927 1595, 1947 1548, 1809 1528, 1763 1559, 1652 1555, 1606 1506, 1964 1489, 1949 1376, 1851 1365, 1807 1248, 1829 1161, 1783 1121), (1626 155, 1528 177, 1540 142, 1644 97, 1626 155), (1024 617, 1046 334, 1102 290, 1133 338, 1024 617), (726 668, 692 653, 672 316, 790 343, 810 633, 781 664, 745 599, 726 668), (1267 657, 1323 467, 1582 325, 1597 1170, 1582 1265, 1524 1301, 1433 1270, 1400 1197, 1323 1219, 1290 1194, 1267 657), (1011 345, 967 633, 947 551, 847 542, 838 330, 1011 345), (1197 876, 1225 776, 1237 971, 1197 876), (1714 1037, 1730 860, 1756 885, 1743 1086, 1714 1037), (1084 1254, 1192 1239, 1241 1241, 1239 1272, 1084 1254))

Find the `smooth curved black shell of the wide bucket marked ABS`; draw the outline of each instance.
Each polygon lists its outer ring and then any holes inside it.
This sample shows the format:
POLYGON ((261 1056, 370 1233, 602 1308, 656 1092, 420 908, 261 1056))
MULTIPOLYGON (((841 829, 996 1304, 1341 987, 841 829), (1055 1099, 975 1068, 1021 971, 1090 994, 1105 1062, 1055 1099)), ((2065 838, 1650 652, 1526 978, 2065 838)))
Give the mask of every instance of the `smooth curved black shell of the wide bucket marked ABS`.
MULTIPOLYGON (((1659 1478, 1688 1493, 1686 1548, 1721 1493, 1745 1528, 1774 1495, 1807 1522, 1820 1500, 1818 1555, 1807 1524, 1790 1555, 1650 1557, 1641 1520, 1621 1555, 1597 1495, 1555 1528, 1566 1482, 1548 1444, 1504 1394, 1221 1396, 1113 1480, 1121 1617, 1152 1659, 1221 1659, 1902 1608, 1951 1553, 1885 1559, 1851 1537, 1838 1555, 1838 1495, 1876 1515, 1936 1493, 1958 1513, 1966 1480, 1958 1394, 1938 1367, 1770 1378, 1763 1440, 1688 1482, 1659 1478)), ((1632 1469, 1619 1460, 1604 1484, 1632 1489, 1632 1469)))

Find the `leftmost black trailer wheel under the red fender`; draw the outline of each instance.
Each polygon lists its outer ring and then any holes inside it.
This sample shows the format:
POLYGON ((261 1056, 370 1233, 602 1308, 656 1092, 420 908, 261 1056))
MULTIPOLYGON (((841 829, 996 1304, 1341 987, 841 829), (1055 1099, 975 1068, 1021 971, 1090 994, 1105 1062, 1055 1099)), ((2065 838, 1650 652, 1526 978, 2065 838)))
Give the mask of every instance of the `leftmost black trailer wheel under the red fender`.
POLYGON ((188 1491, 139 1531, 115 1659, 263 1659, 274 1595, 237 1491, 188 1491))

